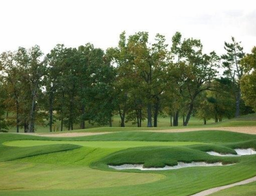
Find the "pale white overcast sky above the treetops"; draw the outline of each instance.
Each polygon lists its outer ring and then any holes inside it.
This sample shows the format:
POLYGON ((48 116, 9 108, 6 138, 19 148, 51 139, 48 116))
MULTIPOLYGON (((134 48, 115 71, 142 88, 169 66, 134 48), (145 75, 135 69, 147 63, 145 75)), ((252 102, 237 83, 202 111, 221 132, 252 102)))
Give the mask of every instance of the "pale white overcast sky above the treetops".
POLYGON ((57 43, 107 49, 122 31, 164 34, 168 43, 179 31, 219 55, 231 36, 246 53, 256 45, 255 0, 1 0, 0 21, 0 53, 35 44, 48 53, 57 43))

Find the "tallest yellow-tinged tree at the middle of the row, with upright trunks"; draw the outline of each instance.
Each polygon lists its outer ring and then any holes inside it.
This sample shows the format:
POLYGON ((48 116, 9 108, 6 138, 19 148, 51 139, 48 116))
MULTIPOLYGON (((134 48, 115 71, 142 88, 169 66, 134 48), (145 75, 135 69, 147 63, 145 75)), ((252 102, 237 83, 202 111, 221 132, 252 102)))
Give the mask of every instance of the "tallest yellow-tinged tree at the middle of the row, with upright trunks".
POLYGON ((136 73, 136 82, 146 95, 147 127, 157 127, 160 110, 160 95, 166 88, 166 58, 168 56, 165 37, 157 34, 155 43, 150 44, 147 32, 138 32, 129 36, 129 51, 134 56, 132 69, 136 73), (154 113, 154 115, 153 115, 154 113), (154 117, 154 124, 152 118, 154 117))

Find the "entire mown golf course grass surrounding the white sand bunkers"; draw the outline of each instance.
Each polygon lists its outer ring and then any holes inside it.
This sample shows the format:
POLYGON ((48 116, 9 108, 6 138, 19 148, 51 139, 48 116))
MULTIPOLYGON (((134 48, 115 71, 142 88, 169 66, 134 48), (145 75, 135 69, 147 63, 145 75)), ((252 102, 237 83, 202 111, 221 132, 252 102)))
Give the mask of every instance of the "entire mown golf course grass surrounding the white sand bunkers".
POLYGON ((217 157, 205 153, 235 153, 236 147, 256 148, 256 136, 214 130, 123 131, 76 138, 0 134, 0 178, 4 179, 0 180, 0 195, 191 195, 256 175, 256 155, 217 157), (162 167, 178 161, 234 165, 170 171, 108 167, 125 163, 162 167))

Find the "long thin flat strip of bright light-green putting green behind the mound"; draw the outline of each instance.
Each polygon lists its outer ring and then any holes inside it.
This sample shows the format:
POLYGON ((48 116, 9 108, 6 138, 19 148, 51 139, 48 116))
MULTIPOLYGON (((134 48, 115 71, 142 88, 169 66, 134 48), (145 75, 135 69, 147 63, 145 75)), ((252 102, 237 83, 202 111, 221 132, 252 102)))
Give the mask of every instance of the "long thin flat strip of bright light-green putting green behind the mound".
MULTIPOLYGON (((6 141, 3 145, 12 147, 32 147, 51 144, 74 144, 84 147, 100 148, 129 148, 144 146, 181 146, 203 144, 196 141, 43 141, 43 140, 16 140, 6 141)), ((205 143, 204 143, 205 144, 205 143)))

